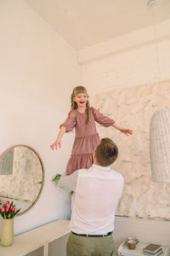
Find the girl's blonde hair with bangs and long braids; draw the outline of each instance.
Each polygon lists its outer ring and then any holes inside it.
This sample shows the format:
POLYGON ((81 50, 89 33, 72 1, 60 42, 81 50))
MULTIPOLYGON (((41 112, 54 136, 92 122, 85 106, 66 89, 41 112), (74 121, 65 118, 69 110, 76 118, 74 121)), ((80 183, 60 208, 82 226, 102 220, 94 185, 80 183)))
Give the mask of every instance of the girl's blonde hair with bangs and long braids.
MULTIPOLYGON (((79 93, 85 93, 88 96, 88 91, 83 86, 77 86, 73 89, 71 94, 71 110, 77 109, 77 102, 74 102, 73 98, 76 97, 79 93)), ((87 113, 87 125, 90 125, 90 103, 86 103, 86 113, 87 113)))

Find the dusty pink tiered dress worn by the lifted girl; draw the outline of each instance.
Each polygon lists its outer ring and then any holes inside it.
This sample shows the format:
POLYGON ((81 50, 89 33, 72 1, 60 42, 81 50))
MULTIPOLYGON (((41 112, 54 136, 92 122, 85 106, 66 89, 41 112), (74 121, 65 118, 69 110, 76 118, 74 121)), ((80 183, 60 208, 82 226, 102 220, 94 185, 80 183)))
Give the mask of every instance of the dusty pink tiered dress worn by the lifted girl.
POLYGON ((95 108, 90 108, 90 125, 87 126, 87 114, 80 113, 77 109, 71 110, 65 123, 66 131, 75 128, 76 137, 72 147, 71 158, 66 166, 66 175, 70 175, 82 168, 89 168, 93 164, 94 148, 99 144, 99 135, 96 131, 95 121, 105 127, 115 123, 113 119, 99 113, 95 108))

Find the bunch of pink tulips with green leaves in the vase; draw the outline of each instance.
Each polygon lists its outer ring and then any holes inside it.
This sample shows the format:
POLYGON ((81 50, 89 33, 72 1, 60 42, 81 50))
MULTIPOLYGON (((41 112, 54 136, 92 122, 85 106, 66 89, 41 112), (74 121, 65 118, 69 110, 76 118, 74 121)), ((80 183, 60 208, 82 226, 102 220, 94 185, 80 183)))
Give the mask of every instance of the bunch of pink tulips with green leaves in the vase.
POLYGON ((20 209, 17 210, 13 201, 11 203, 9 203, 9 201, 6 201, 3 207, 0 207, 0 214, 3 218, 14 218, 14 216, 19 212, 20 209))

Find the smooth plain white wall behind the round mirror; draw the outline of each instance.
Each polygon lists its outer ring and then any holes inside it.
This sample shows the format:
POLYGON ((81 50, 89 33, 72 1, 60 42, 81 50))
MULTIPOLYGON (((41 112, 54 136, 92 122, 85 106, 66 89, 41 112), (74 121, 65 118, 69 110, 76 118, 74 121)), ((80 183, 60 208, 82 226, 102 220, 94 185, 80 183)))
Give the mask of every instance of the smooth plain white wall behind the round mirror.
POLYGON ((77 51, 22 0, 0 2, 0 154, 15 144, 35 148, 45 184, 31 211, 14 219, 14 234, 70 216, 70 195, 54 189, 51 178, 64 173, 73 134, 62 148, 49 145, 70 109, 72 88, 80 82, 77 51))

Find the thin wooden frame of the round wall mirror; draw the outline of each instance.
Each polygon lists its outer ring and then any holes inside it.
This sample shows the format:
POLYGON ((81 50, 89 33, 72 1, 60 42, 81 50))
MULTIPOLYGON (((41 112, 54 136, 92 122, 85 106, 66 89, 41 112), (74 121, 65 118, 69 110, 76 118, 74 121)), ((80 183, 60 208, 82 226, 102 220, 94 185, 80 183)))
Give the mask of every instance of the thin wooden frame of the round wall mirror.
POLYGON ((37 153, 37 151, 36 151, 34 148, 31 148, 30 146, 25 145, 25 144, 17 144, 17 145, 14 145, 14 146, 12 146, 12 147, 6 149, 5 151, 3 151, 2 154, 0 154, 0 160, 1 160, 1 158, 3 157, 4 154, 7 154, 8 151, 10 151, 11 149, 16 148, 16 147, 24 147, 24 148, 29 148, 29 149, 31 149, 35 154, 37 154, 37 157, 38 157, 38 159, 39 159, 39 161, 40 161, 40 164, 41 164, 41 166, 42 166, 42 186, 41 186, 41 189, 40 189, 40 191, 39 191, 39 193, 38 193, 38 195, 37 195, 37 198, 36 198, 36 200, 31 204, 31 206, 28 207, 25 211, 19 212, 19 213, 16 215, 16 217, 17 217, 17 216, 20 216, 20 215, 22 215, 22 214, 24 214, 24 213, 30 211, 31 208, 34 207, 35 204, 37 203, 37 201, 38 201, 40 195, 42 194, 42 189, 43 189, 43 186, 44 186, 45 173, 44 173, 44 167, 43 167, 42 159, 41 159, 40 155, 37 153))

